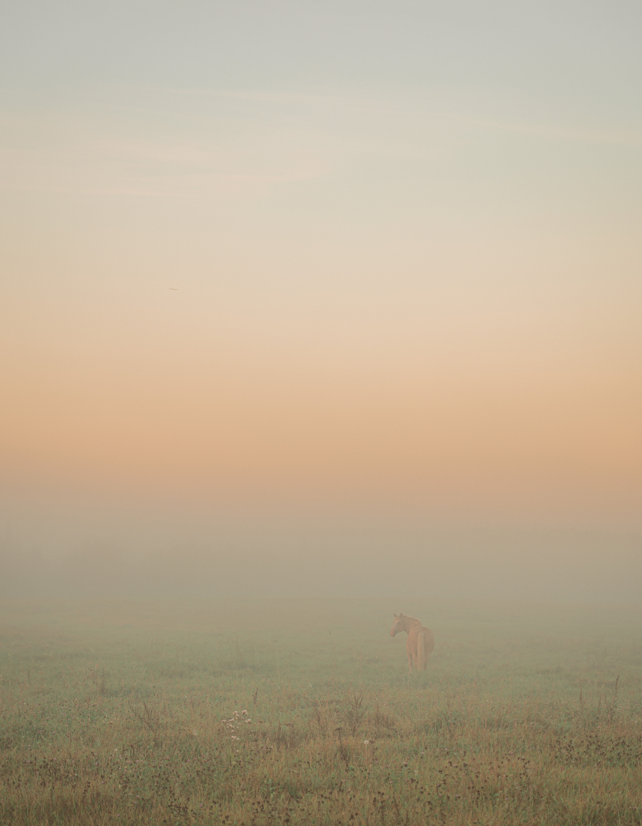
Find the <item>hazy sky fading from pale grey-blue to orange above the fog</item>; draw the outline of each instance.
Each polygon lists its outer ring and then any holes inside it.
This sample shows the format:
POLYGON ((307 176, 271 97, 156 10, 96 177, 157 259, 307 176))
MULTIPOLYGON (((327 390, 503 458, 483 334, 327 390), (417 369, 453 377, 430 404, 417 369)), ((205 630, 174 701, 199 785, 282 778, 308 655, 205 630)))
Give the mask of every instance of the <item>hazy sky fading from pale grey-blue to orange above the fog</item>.
POLYGON ((639 537, 641 26, 3 2, 2 542, 639 537))

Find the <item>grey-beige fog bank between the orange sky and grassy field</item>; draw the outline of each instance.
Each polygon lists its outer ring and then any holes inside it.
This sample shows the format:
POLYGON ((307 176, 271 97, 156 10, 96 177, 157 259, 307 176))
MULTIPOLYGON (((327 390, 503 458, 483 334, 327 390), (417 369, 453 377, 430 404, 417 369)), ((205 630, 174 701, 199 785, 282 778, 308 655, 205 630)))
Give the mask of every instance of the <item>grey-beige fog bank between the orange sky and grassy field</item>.
POLYGON ((6 529, 0 595, 395 597, 400 608, 404 598, 642 601, 635 532, 439 525, 375 512, 116 516, 41 519, 38 529, 32 520, 23 538, 6 529))

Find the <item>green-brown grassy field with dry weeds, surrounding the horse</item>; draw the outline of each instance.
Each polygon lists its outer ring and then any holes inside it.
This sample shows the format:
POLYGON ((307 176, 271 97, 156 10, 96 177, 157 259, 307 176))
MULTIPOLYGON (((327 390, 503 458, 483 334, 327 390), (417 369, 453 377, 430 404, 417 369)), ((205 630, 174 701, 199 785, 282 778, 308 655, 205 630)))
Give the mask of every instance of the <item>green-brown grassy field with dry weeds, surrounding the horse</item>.
POLYGON ((5 601, 0 692, 2 824, 642 824, 640 609, 5 601))

